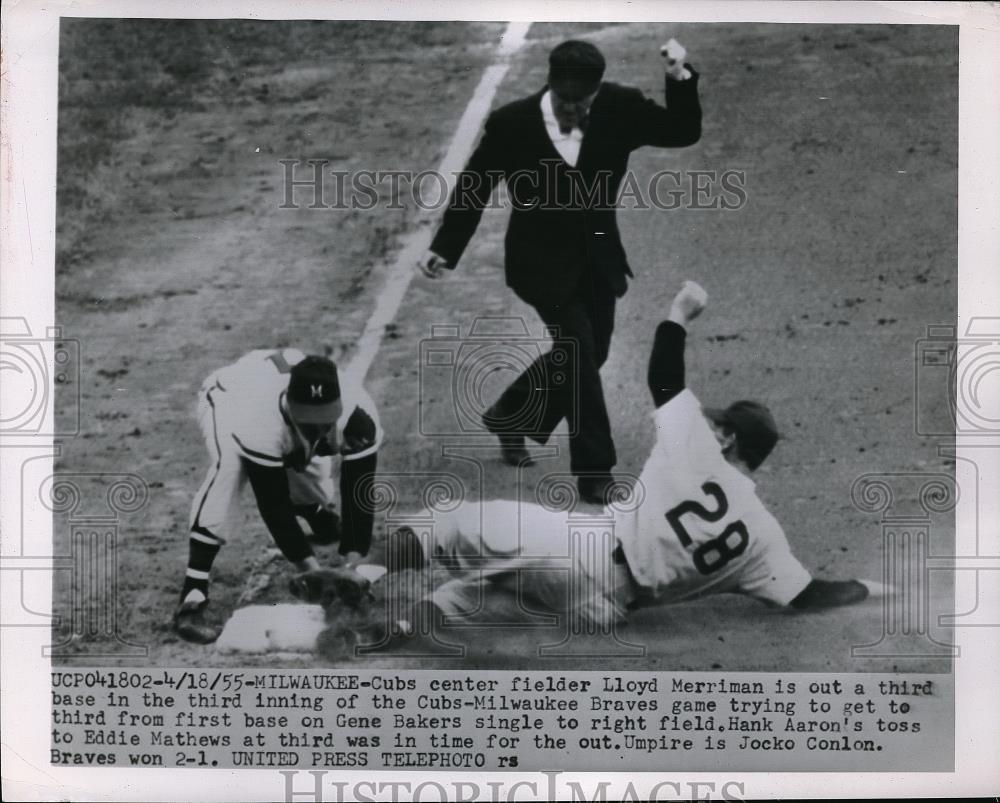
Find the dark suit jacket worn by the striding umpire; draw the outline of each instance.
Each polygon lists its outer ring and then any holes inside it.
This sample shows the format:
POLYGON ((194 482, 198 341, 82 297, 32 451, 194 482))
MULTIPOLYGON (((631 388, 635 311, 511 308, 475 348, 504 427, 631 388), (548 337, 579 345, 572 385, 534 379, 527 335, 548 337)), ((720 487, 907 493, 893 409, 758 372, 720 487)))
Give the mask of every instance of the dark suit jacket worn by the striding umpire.
POLYGON ((577 290, 589 269, 620 296, 632 273, 614 206, 629 154, 643 145, 681 147, 698 141, 698 76, 666 79, 666 108, 638 89, 602 83, 575 168, 562 159, 546 131, 541 110, 546 89, 489 116, 431 250, 450 267, 457 265, 502 178, 512 205, 505 241, 508 286, 533 306, 558 304, 577 290))

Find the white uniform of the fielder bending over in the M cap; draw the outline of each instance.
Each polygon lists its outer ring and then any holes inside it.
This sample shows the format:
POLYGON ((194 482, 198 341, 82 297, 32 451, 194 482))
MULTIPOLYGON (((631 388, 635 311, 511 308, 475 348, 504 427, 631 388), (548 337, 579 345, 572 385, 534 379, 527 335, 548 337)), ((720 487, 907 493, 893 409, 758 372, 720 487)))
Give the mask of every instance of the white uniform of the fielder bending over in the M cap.
MULTIPOLYGON (((198 423, 212 465, 191 507, 191 537, 224 542, 231 514, 247 475, 243 460, 288 468, 293 504, 333 502, 333 454, 358 460, 375 453, 382 440, 378 413, 359 387, 341 387, 341 414, 328 436, 330 454, 318 455, 288 415, 285 392, 291 367, 304 359, 298 349, 252 351, 209 376, 198 394, 198 423), (375 424, 361 451, 345 445, 344 431, 357 411, 375 424)), ((355 417, 356 420, 356 417, 355 417)))

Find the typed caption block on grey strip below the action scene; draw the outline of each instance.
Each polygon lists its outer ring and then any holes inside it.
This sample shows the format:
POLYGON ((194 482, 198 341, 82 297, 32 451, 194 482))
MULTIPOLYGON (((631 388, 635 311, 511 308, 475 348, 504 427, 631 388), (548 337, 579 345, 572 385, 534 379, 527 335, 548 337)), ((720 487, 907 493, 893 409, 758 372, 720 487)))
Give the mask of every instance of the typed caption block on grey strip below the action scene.
POLYGON ((53 765, 950 771, 951 675, 52 673, 53 765))

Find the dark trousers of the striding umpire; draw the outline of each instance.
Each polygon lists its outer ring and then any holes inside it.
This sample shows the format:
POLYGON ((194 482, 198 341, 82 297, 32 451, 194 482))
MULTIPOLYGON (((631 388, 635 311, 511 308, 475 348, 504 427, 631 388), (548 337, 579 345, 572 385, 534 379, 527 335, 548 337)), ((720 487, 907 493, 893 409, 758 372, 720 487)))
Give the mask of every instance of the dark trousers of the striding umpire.
POLYGON ((565 418, 576 475, 606 473, 617 462, 600 373, 611 347, 615 301, 607 281, 588 273, 568 300, 533 304, 545 324, 558 330, 555 343, 497 403, 505 418, 523 422, 515 431, 538 443, 547 442, 565 418))

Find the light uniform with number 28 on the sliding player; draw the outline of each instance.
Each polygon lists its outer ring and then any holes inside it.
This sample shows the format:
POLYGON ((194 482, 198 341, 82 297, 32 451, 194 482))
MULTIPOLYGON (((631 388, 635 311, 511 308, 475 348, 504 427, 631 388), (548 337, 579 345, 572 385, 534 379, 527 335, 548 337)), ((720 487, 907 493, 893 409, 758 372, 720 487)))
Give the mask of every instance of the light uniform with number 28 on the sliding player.
POLYGON ((573 518, 566 513, 515 501, 465 503, 453 512, 423 514, 435 518, 435 556, 456 572, 434 591, 435 605, 448 614, 472 614, 489 598, 489 584, 510 592, 508 618, 535 602, 606 626, 633 604, 704 594, 791 602, 811 576, 753 481, 722 455, 694 394, 681 391, 654 417, 656 444, 639 478, 645 498, 637 510, 615 517, 627 569, 612 560, 614 543, 603 555, 593 542, 573 549, 573 518))

